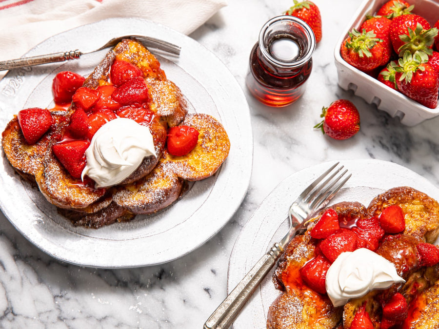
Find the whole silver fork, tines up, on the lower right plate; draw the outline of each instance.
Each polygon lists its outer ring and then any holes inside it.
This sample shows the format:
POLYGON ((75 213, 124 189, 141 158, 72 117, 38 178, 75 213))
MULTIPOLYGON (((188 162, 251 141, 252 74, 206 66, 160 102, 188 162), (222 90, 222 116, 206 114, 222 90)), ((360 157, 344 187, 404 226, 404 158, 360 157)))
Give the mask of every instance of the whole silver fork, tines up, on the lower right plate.
POLYGON ((328 204, 351 177, 351 174, 349 174, 339 182, 347 173, 347 170, 340 173, 343 166, 340 166, 333 174, 330 174, 338 165, 339 162, 331 166, 331 168, 312 182, 302 194, 299 195, 296 201, 291 204, 288 209, 290 225, 288 232, 280 242, 275 243, 274 246, 259 259, 256 265, 244 276, 235 289, 230 292, 226 299, 224 299, 220 306, 207 319, 204 324, 204 329, 225 329, 232 325, 239 311, 244 307, 259 283, 276 264, 288 242, 300 230, 306 229, 308 222, 305 220, 328 204), (325 179, 324 182, 320 183, 323 179, 325 179))

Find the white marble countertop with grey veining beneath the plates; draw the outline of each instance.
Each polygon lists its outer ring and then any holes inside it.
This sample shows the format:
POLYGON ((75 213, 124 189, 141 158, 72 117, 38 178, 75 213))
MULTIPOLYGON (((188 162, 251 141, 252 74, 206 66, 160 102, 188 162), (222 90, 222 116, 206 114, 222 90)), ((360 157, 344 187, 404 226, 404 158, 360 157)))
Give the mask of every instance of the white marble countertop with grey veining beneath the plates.
MULTIPOLYGON (((323 39, 303 97, 273 110, 245 89, 250 50, 260 27, 291 0, 230 0, 191 37, 216 54, 246 94, 254 159, 248 192, 230 222, 194 252, 167 264, 105 270, 62 263, 28 242, 0 218, 1 328, 202 328, 226 296, 227 266, 239 232, 279 182, 300 169, 335 159, 377 158, 401 164, 439 186, 439 118, 406 127, 337 85, 334 45, 361 0, 315 0, 323 39), (313 126, 322 106, 347 98, 361 129, 336 141, 313 126)), ((260 328, 264 328, 261 324, 260 328)))

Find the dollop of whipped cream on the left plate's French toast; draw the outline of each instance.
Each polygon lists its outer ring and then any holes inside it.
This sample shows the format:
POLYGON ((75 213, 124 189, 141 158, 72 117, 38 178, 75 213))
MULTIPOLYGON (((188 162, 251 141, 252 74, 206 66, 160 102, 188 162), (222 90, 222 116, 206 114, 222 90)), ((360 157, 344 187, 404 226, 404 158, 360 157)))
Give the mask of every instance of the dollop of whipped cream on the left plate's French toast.
POLYGON ((81 177, 89 176, 96 187, 116 185, 132 174, 148 155, 157 157, 149 128, 119 117, 105 123, 93 136, 85 151, 87 165, 81 177))

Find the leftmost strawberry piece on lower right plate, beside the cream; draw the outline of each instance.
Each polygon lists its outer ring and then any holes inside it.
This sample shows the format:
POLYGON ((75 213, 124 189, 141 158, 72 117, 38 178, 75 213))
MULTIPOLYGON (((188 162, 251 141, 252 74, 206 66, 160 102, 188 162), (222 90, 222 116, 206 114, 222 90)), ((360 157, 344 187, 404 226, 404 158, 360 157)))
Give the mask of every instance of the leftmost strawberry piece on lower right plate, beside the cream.
POLYGON ((303 265, 300 269, 300 277, 312 290, 318 293, 326 293, 326 272, 330 266, 328 260, 319 255, 303 265))

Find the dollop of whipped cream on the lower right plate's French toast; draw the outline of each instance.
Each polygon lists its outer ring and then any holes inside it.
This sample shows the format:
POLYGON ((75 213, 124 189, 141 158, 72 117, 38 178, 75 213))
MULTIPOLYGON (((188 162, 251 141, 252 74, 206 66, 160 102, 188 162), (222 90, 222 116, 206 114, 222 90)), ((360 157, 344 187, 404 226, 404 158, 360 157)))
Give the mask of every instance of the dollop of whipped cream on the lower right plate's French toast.
POLYGON ((326 291, 335 307, 370 290, 389 288, 395 282, 405 282, 395 265, 365 248, 342 252, 326 273, 326 291))

